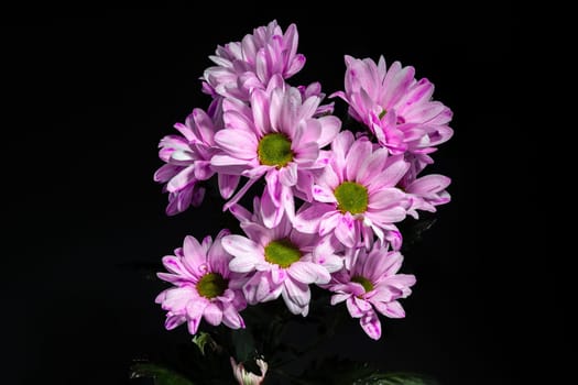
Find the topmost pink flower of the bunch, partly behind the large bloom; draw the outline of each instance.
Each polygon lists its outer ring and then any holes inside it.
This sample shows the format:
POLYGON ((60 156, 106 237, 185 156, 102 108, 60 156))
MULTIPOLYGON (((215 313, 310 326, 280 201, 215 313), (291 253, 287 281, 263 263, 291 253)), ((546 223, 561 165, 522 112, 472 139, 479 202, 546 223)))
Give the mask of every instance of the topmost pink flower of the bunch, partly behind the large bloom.
POLYGON ((266 88, 274 75, 284 79, 298 73, 305 56, 297 54, 298 33, 291 24, 285 33, 274 20, 259 26, 241 42, 218 46, 210 59, 216 66, 205 70, 205 92, 214 97, 249 100, 253 88, 266 88))

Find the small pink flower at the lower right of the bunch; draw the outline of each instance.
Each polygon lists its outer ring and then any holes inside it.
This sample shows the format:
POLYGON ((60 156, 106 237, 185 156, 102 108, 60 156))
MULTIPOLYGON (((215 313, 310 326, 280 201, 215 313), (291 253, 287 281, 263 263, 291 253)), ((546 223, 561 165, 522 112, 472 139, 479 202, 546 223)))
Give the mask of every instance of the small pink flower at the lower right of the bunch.
POLYGON ((381 337, 381 322, 375 310, 385 317, 403 318, 405 311, 397 299, 407 297, 415 276, 396 274, 403 256, 375 243, 368 253, 363 248, 350 250, 349 268, 332 275, 329 285, 334 292, 331 305, 346 301, 353 318, 359 318, 363 331, 373 340, 381 337))

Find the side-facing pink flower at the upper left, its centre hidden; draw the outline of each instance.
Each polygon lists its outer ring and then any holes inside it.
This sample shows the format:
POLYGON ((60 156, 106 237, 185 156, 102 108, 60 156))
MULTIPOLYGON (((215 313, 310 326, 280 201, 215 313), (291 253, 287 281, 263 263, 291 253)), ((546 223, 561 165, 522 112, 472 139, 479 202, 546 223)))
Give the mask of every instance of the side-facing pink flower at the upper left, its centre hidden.
MULTIPOLYGON (((210 158, 217 153, 214 136, 218 127, 201 109, 193 110, 185 124, 176 123, 175 129, 182 135, 166 135, 161 140, 159 156, 166 164, 154 174, 155 182, 166 184, 163 190, 168 193, 168 216, 203 202, 205 188, 198 183, 215 174, 210 158)), ((219 187, 225 198, 230 198, 238 184, 239 176, 219 175, 219 187)))

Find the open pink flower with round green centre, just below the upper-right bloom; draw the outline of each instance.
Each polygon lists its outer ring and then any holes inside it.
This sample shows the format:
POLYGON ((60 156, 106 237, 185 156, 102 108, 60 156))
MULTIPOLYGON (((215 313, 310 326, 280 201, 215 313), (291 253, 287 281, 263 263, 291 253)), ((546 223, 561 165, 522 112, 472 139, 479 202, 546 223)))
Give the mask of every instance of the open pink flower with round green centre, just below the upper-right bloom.
POLYGON ((334 234, 347 248, 369 248, 377 235, 401 246, 395 222, 405 218, 408 198, 395 186, 408 164, 389 155, 366 136, 340 132, 331 143, 332 158, 313 186, 312 204, 295 218, 295 228, 320 237, 334 234))

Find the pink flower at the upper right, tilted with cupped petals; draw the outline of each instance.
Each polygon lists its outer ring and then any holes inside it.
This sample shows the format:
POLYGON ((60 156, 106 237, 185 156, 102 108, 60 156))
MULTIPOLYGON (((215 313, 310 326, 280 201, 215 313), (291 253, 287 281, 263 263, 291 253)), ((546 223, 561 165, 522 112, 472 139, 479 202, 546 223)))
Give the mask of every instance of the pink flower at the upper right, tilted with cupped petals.
POLYGON ((415 69, 394 62, 390 68, 380 57, 345 57, 345 92, 335 92, 349 103, 349 113, 366 124, 380 145, 392 154, 428 154, 449 140, 451 111, 432 100, 434 85, 426 78, 416 80, 415 69))

